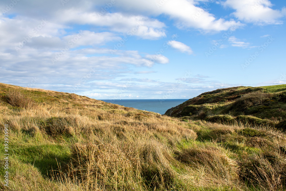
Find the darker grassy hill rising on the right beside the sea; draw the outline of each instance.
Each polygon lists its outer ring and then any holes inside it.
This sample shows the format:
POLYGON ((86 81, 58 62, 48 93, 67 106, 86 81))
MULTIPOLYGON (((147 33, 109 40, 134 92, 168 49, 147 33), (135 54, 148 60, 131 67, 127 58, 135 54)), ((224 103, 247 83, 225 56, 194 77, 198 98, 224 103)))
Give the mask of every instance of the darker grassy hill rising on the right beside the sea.
POLYGON ((169 109, 165 115, 274 127, 286 119, 286 85, 239 86, 205 92, 169 109))

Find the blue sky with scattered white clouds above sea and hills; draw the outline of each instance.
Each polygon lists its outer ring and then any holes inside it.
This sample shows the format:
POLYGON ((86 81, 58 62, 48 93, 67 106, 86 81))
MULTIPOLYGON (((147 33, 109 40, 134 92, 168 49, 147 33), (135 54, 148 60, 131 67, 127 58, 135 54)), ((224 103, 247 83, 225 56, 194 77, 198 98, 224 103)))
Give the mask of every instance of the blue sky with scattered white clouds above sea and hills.
POLYGON ((94 99, 286 84, 286 1, 1 0, 0 82, 94 99))

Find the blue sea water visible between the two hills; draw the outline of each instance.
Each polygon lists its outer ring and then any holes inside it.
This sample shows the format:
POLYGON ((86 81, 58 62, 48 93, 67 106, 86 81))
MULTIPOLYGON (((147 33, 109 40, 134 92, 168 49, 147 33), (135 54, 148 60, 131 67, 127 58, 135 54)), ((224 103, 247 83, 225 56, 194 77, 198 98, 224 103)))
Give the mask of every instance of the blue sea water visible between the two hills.
POLYGON ((103 99, 102 101, 164 114, 171 107, 175 107, 187 100, 188 99, 103 99))

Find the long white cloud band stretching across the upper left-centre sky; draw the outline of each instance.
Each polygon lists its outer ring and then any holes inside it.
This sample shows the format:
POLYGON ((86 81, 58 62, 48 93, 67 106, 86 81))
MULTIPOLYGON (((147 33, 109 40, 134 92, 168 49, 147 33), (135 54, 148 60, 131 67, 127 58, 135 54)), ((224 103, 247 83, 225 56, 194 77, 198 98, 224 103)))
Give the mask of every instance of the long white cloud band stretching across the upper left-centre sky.
POLYGON ((166 37, 165 24, 157 19, 141 15, 124 15, 122 13, 85 12, 78 9, 68 9, 57 13, 62 23, 92 24, 109 27, 110 30, 128 36, 140 36, 143 39, 166 37))

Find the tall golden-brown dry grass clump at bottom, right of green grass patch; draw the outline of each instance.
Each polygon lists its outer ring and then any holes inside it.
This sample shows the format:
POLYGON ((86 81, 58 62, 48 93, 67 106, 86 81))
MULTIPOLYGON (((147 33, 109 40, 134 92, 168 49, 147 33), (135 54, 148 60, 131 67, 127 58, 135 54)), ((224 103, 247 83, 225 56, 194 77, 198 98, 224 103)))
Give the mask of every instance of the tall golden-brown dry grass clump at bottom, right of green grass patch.
MULTIPOLYGON (((68 176, 80 180, 91 190, 132 190, 140 170, 132 165, 136 153, 124 153, 116 144, 75 144, 68 176)), ((138 156, 137 156, 138 157, 138 156)), ((135 164, 134 164, 135 165, 135 164)))

